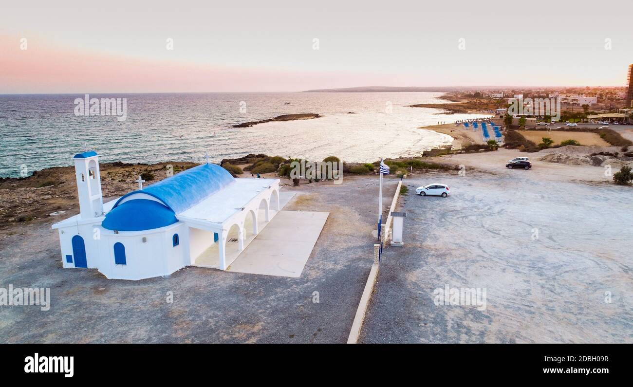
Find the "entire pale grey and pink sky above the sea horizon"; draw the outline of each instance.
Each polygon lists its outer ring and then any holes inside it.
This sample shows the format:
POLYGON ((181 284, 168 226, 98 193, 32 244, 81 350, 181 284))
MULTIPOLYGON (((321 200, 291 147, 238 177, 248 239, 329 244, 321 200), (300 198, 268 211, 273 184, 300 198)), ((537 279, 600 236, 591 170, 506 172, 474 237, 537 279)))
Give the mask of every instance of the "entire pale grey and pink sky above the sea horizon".
POLYGON ((0 0, 0 94, 623 86, 632 11, 622 0, 0 0))

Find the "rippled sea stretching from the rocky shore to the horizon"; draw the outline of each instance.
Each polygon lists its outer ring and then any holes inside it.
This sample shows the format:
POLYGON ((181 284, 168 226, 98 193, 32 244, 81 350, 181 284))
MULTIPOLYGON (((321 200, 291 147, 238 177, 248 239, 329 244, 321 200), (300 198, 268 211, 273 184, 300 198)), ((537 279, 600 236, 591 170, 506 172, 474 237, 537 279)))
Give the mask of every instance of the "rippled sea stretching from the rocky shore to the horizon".
POLYGON ((127 163, 201 162, 206 152, 213 161, 248 153, 312 160, 334 155, 349 162, 416 156, 451 141, 418 126, 479 117, 408 107, 444 102, 438 99, 441 93, 427 92, 90 95, 127 98, 125 121, 115 116, 75 116, 73 102, 83 97, 0 95, 0 176, 20 176, 22 165, 28 175, 71 165, 71 157, 84 144, 97 150, 101 161, 127 163), (240 109, 242 101, 246 111, 240 109), (292 113, 323 117, 230 127, 292 113))

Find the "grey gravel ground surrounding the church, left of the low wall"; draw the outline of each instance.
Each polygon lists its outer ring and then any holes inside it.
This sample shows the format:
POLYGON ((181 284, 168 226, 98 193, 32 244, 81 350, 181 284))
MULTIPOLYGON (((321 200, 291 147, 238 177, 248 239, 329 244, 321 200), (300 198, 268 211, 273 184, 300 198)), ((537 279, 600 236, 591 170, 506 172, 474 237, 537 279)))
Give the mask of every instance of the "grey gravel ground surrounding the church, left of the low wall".
MULTIPOLYGON (((396 183, 385 182, 385 207, 396 183)), ((285 209, 330 212, 300 278, 186 267, 165 278, 107 280, 94 269, 61 267, 53 219, 6 225, 0 287, 51 288, 52 302, 48 311, 1 307, 0 342, 346 342, 373 262, 377 179, 284 190, 298 193, 285 209)))

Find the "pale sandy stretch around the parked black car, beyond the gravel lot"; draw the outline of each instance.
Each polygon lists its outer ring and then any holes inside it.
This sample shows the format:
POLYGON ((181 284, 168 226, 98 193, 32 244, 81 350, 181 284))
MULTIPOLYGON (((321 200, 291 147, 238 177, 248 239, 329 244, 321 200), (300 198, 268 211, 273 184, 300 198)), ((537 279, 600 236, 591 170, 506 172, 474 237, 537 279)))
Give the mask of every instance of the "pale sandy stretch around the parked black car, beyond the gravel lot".
POLYGON ((605 169, 595 166, 566 165, 539 161, 544 156, 541 152, 527 153, 516 149, 500 148, 494 152, 462 153, 446 156, 430 157, 439 163, 461 164, 468 175, 469 170, 487 171, 498 176, 516 175, 516 169, 507 169, 505 164, 515 157, 529 157, 532 163, 523 178, 531 181, 583 181, 592 183, 613 182, 611 176, 605 176, 605 169))

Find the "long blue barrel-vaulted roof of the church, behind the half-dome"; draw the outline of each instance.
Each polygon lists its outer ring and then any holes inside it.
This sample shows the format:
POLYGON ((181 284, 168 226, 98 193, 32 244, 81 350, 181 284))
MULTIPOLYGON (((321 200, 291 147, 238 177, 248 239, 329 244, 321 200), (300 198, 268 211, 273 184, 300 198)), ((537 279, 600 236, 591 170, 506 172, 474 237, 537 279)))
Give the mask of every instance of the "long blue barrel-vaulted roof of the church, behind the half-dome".
POLYGON ((116 202, 113 211, 125 197, 144 193, 155 197, 173 212, 180 214, 233 181, 234 177, 221 166, 211 163, 201 164, 149 185, 143 190, 127 193, 116 202))

